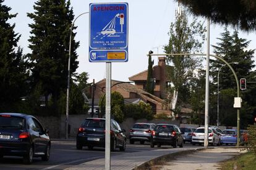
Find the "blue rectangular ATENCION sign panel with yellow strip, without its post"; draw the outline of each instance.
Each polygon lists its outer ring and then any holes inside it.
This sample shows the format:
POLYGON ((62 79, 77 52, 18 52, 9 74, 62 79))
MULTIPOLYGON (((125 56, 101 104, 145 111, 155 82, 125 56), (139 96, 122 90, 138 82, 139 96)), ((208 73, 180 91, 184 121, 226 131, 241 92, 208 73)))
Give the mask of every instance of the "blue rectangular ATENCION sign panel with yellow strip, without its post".
POLYGON ((128 61, 128 4, 90 4, 90 62, 128 61))

